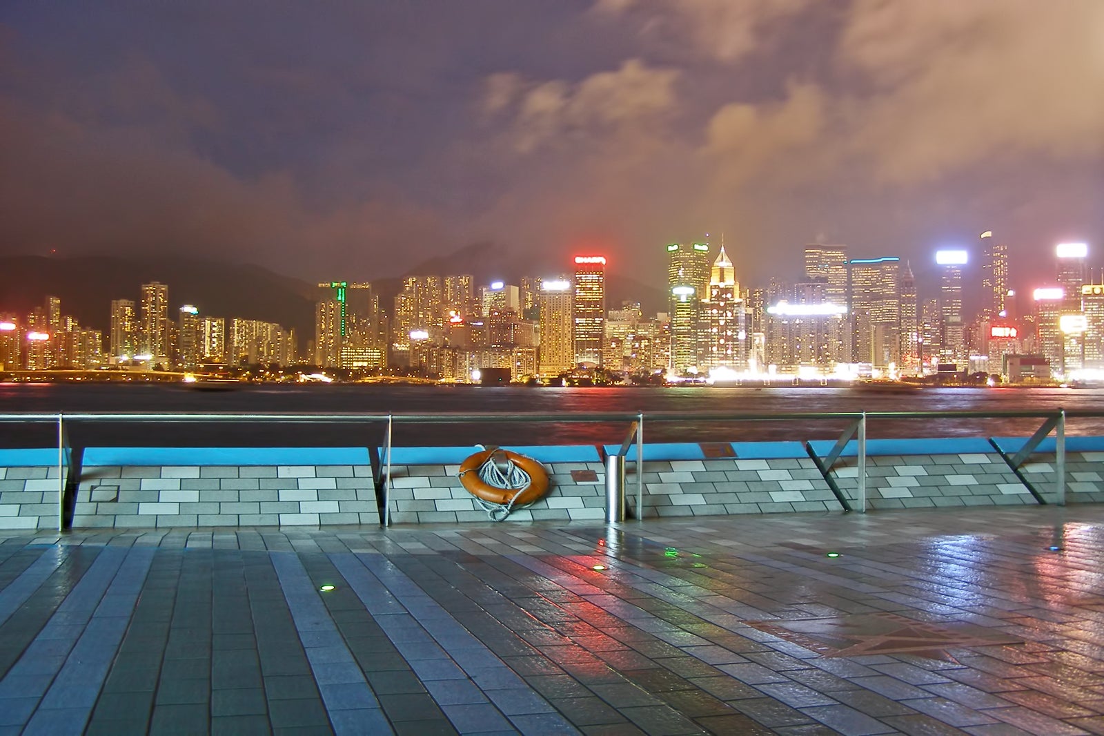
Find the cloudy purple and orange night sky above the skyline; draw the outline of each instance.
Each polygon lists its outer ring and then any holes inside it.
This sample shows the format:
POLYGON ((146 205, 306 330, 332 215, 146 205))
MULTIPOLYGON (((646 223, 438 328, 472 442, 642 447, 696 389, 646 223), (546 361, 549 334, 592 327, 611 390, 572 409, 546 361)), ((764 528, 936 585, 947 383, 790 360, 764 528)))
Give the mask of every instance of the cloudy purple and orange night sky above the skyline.
POLYGON ((658 286, 723 232, 764 284, 819 235, 923 292, 992 230, 1027 288, 1104 265, 1104 2, 8 0, 0 141, 0 255, 371 281, 486 241, 658 286))

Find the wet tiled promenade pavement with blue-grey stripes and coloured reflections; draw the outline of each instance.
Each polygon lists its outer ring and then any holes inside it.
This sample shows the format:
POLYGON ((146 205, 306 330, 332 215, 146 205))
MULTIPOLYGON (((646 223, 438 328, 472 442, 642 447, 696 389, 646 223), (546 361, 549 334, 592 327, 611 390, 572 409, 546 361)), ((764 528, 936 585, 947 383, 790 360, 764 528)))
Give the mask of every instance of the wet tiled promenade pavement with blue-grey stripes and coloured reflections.
POLYGON ((1104 734, 1104 505, 0 540, 0 734, 1104 734))

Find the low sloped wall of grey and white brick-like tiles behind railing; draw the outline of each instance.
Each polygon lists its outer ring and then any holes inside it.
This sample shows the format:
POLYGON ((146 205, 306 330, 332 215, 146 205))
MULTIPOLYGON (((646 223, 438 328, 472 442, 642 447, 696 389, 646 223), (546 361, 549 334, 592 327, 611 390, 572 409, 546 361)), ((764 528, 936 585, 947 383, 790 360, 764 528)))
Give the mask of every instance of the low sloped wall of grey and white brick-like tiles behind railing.
MULTIPOLYGON (((1081 439, 1082 446, 1087 438, 1081 439)), ((927 454, 885 453, 867 458, 867 502, 872 509, 1033 504, 1028 487, 996 452, 979 441, 894 441, 892 448, 927 449, 927 454), (910 444, 912 443, 912 444, 910 444), (942 450, 942 451, 940 451, 942 450)), ((1095 442, 1100 443, 1098 440, 1095 442)), ((830 443, 829 443, 830 444, 830 443)), ((872 443, 873 444, 873 443, 872 443)), ((797 443, 740 443, 739 456, 704 459, 698 445, 648 445, 643 467, 645 516, 767 514, 839 511, 841 505, 816 463, 796 454, 797 443), (787 445, 779 449, 781 445, 787 445), (794 446, 788 446, 794 445, 794 446), (768 455, 749 456, 756 452, 768 455), (693 458, 694 454, 699 458, 693 458), (664 454, 676 459, 665 460, 664 454)), ((820 448, 821 450, 824 448, 820 448)), ((460 485, 458 461, 469 448, 407 449, 391 465, 391 521, 395 524, 485 521, 487 514, 460 485)), ((549 471, 549 494, 511 521, 602 519, 605 467, 597 450, 524 449, 549 471), (584 458, 575 461, 573 458, 584 458)), ((1042 450, 1048 450, 1043 445, 1042 450)), ((1050 503, 1054 455, 1032 455, 1021 472, 1050 503)), ((57 465, 54 451, 0 452, 0 528, 55 528, 57 465), (14 460, 13 460, 14 459, 14 460), (18 462, 17 462, 18 461, 18 462)), ((76 486, 74 528, 172 526, 276 526, 379 524, 372 467, 354 455, 326 451, 279 453, 299 464, 87 464, 76 486), (322 453, 322 454, 320 454, 322 453), (349 458, 350 464, 307 464, 308 458, 349 458)), ((187 454, 174 455, 185 458, 187 454)), ((148 458, 146 458, 148 460, 148 458)), ((637 502, 634 456, 626 463, 630 513, 637 502)), ((1066 497, 1071 503, 1104 501, 1104 452, 1066 452, 1066 497)), ((856 460, 832 469, 841 493, 857 507, 856 460)))

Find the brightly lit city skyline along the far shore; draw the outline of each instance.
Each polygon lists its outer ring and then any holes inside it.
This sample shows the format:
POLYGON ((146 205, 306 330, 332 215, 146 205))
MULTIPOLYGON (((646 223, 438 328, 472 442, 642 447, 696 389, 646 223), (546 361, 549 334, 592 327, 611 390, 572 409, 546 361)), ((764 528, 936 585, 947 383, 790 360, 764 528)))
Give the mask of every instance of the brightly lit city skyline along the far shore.
POLYGON ((1087 243, 1058 243, 1052 284, 1031 291, 1020 312, 1008 288, 1007 249, 979 234, 978 271, 967 250, 934 253, 936 298, 921 298, 907 261, 850 257, 842 244, 809 243, 803 278, 741 285, 723 235, 670 243, 669 302, 651 316, 639 302, 607 302, 607 259, 575 255, 574 274, 523 276, 520 285, 471 274, 407 276, 394 296, 368 282, 315 286, 315 329, 305 353, 294 329, 214 317, 193 304, 170 307, 169 286, 141 284, 140 309, 110 302, 109 345, 46 295, 25 317, 0 312, 0 362, 7 369, 157 367, 195 370, 251 364, 323 369, 412 370, 469 381, 488 369, 548 380, 577 370, 668 380, 776 374, 837 379, 1000 375, 1001 380, 1068 380, 1104 371, 1100 290, 1087 243), (715 256, 713 255, 715 253, 715 256), (977 287, 980 290, 977 290, 977 287), (979 291, 974 311, 963 294, 979 291), (560 296, 556 296, 556 293, 560 296), (392 307, 389 309, 389 304, 392 307), (1043 372, 1045 371, 1045 372, 1043 372), (1086 372, 1089 371, 1089 372, 1086 372))

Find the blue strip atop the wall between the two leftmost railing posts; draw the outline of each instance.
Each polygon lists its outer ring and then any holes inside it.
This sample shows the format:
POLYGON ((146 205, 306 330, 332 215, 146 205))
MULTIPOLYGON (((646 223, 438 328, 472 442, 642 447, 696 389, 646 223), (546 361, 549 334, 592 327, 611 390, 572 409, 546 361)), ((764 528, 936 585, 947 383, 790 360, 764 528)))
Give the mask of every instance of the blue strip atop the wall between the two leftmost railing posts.
MULTIPOLYGON (((56 455, 54 462, 57 462, 56 455)), ((368 448, 88 448, 84 465, 368 465, 368 448)))

